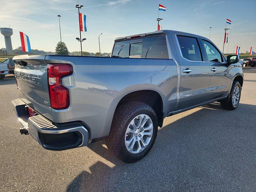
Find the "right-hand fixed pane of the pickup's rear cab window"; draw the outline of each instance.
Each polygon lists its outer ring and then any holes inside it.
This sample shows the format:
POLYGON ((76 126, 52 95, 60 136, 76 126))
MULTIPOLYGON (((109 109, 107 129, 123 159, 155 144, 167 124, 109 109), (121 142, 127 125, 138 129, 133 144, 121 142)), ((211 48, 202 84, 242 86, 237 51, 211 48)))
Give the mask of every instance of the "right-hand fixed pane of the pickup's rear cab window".
POLYGON ((168 59, 165 36, 148 37, 143 39, 142 56, 147 59, 168 59))

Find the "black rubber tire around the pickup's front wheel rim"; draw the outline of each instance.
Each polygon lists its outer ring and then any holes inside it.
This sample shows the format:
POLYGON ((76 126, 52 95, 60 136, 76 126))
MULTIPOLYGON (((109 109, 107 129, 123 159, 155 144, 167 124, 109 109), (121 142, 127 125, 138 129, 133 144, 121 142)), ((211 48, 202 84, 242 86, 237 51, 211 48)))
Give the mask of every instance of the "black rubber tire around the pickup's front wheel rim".
POLYGON ((222 106, 222 108, 226 109, 226 110, 234 110, 238 107, 239 105, 239 102, 240 102, 240 98, 241 98, 241 85, 238 81, 234 81, 233 84, 232 84, 232 88, 230 90, 230 93, 228 94, 228 97, 225 98, 225 99, 222 99, 220 101, 220 104, 222 106), (234 92, 234 89, 238 86, 239 88, 239 91, 240 91, 240 95, 239 95, 239 99, 238 99, 238 103, 236 105, 233 105, 232 103, 232 94, 234 92))

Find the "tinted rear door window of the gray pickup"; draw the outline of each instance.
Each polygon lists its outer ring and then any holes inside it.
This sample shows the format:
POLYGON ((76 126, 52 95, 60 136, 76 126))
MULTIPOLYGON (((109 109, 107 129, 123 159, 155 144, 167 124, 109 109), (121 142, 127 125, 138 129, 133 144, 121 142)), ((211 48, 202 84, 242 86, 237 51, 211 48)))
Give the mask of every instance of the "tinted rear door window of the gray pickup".
POLYGON ((196 38, 178 36, 182 56, 190 61, 202 61, 201 51, 196 38))

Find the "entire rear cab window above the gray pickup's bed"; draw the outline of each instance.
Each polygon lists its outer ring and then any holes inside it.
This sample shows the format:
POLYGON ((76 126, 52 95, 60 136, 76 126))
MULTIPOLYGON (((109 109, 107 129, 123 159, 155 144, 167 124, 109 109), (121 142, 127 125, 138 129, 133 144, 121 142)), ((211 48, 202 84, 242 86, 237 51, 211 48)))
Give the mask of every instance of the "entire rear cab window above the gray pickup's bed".
POLYGON ((166 36, 145 37, 116 42, 112 57, 168 59, 166 36))

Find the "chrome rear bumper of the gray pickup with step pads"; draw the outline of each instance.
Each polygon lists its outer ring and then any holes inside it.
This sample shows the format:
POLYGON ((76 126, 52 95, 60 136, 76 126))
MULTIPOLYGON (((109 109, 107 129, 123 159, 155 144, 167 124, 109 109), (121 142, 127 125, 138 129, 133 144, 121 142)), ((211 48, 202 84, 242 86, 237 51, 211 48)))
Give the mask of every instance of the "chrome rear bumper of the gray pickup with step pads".
POLYGON ((12 101, 19 121, 41 146, 49 150, 65 150, 86 146, 88 131, 80 123, 55 126, 40 114, 29 117, 27 105, 20 99, 12 101))

